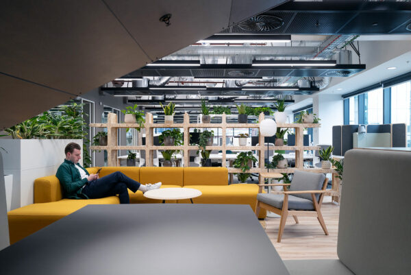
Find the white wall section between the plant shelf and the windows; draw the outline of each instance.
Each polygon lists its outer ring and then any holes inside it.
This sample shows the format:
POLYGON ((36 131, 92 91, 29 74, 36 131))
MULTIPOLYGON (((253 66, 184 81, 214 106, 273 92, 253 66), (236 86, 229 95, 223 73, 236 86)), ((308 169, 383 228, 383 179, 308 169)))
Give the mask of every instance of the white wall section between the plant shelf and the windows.
POLYGON ((344 123, 343 98, 340 95, 314 95, 312 112, 321 119, 321 127, 313 130, 314 145, 332 145, 332 126, 344 123))

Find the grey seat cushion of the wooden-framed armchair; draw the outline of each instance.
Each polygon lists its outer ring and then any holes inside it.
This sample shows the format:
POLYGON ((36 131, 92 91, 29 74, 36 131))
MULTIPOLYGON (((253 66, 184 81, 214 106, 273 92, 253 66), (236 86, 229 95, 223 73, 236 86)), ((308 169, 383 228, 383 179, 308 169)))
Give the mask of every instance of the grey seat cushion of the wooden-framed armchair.
MULTIPOLYGON (((275 208, 282 209, 284 202, 284 195, 279 194, 264 194, 258 193, 257 200, 269 204, 275 208)), ((288 195, 288 209, 290 210, 314 210, 314 205, 311 200, 288 195)))

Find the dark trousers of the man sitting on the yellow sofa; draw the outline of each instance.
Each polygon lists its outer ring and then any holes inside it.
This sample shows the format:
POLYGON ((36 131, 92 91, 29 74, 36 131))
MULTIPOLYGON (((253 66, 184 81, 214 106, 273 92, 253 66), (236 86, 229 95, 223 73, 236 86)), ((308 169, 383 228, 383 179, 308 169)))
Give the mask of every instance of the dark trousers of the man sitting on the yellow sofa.
POLYGON ((140 187, 140 182, 132 180, 125 174, 116 171, 97 180, 88 182, 82 193, 90 199, 99 199, 119 194, 121 204, 129 204, 130 198, 127 189, 134 193, 140 187))

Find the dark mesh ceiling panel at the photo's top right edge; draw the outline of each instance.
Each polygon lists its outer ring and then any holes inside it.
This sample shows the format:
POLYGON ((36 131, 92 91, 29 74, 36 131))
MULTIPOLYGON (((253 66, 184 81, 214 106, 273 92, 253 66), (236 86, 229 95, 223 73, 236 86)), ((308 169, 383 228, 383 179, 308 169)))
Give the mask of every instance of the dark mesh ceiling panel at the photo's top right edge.
POLYGON ((388 34, 410 19, 410 12, 360 12, 340 33, 388 34))

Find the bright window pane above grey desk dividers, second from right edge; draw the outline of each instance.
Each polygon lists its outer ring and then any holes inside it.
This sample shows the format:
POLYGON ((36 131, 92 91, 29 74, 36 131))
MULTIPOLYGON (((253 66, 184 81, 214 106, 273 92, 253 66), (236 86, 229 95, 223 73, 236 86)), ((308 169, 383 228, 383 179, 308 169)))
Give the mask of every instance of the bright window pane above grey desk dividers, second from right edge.
POLYGON ((364 94, 364 124, 383 124, 383 93, 377 88, 364 94))

